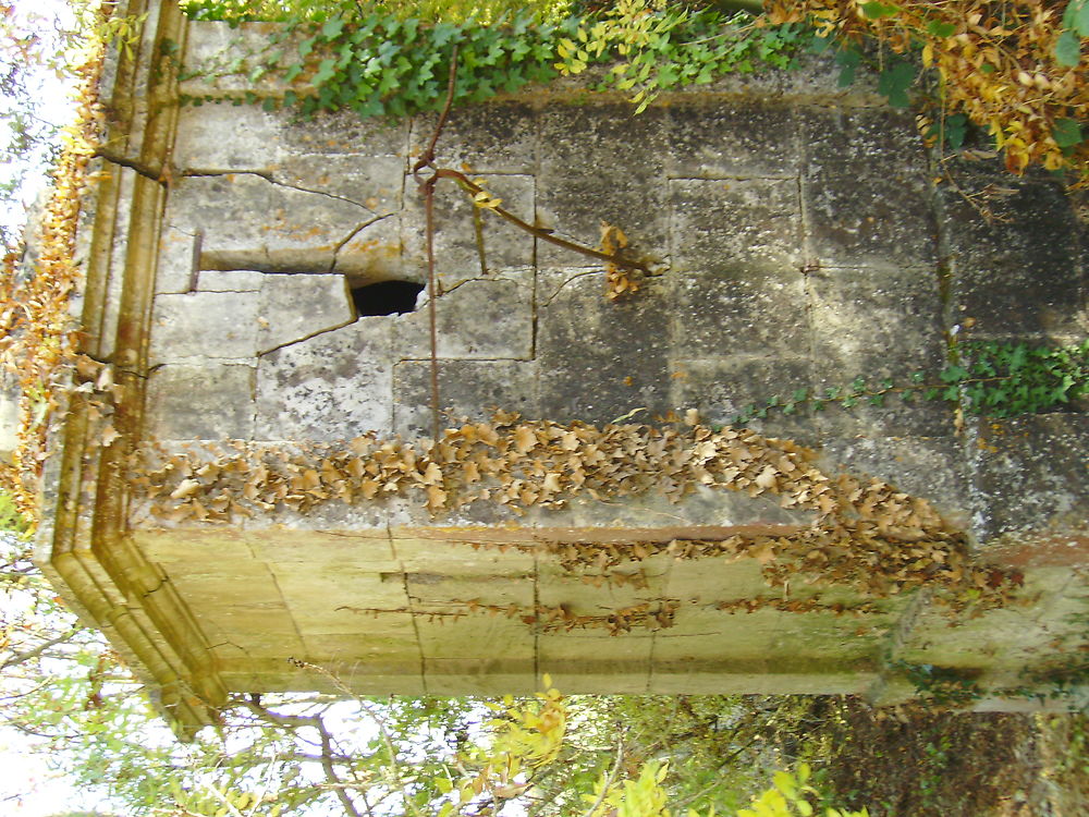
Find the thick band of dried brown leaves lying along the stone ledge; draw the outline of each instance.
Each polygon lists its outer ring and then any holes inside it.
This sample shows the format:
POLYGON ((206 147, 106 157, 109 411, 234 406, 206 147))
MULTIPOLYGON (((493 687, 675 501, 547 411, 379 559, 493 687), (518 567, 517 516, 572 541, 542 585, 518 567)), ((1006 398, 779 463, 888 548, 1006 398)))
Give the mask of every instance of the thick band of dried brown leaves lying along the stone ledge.
MULTIPOLYGON (((416 498, 432 515, 479 501, 516 512, 562 508, 576 497, 659 492, 677 502, 707 486, 772 495, 783 507, 815 512, 816 520, 792 536, 515 547, 544 552, 591 583, 638 585, 637 574, 617 568, 658 553, 755 558, 772 588, 797 577, 802 584, 851 587, 880 599, 927 586, 949 592, 955 607, 976 609, 1004 603, 1020 582, 1015 574, 971 563, 963 535, 925 500, 880 480, 829 476, 806 449, 748 429, 698 424, 598 428, 499 413, 490 423, 446 429, 438 443, 368 434, 341 444, 234 441, 176 451, 151 446, 134 458, 131 483, 137 499, 143 496, 151 514, 169 524, 227 523, 284 509, 305 513, 322 502, 393 496, 416 498)), ((822 603, 795 593, 793 598, 747 599, 737 609, 802 611, 822 603)), ((841 608, 835 611, 848 609, 841 608)))

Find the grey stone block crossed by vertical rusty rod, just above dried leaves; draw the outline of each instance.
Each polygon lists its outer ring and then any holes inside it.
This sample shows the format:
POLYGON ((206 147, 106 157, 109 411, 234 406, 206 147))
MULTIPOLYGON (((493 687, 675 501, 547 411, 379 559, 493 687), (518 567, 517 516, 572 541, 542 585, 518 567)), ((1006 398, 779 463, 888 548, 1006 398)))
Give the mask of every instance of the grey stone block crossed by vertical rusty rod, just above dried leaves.
MULTIPOLYGON (((516 361, 440 361, 442 423, 488 419, 494 408, 539 415, 537 367, 516 361)), ((401 362, 393 370, 393 428, 406 438, 431 435, 431 364, 401 362)))

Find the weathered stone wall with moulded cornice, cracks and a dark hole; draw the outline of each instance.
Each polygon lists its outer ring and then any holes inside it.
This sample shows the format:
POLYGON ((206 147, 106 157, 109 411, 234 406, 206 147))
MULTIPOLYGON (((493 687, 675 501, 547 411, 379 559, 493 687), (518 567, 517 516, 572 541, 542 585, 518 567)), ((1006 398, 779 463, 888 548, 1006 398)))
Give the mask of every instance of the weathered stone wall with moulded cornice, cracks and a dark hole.
MULTIPOLYGON (((124 447, 295 450, 431 432, 426 291, 412 312, 359 312, 384 297, 370 284, 427 280, 411 168, 435 119, 297 121, 232 105, 230 78, 179 87, 150 70, 156 42, 182 44, 199 66, 259 46, 267 29, 152 12, 140 61, 119 63, 111 92, 127 119, 110 144, 145 173, 114 168, 86 231, 85 324, 127 390, 114 415, 121 443, 99 452, 72 422, 42 559, 166 691, 173 717, 201 722, 230 691, 322 683, 289 657, 368 693, 526 691, 551 672, 567 692, 895 699, 910 691, 896 661, 1014 685, 1041 643, 1076 635, 1066 617, 1082 610, 1085 587, 1070 569, 1089 546, 1089 424, 1077 412, 994 423, 891 402, 754 423, 818 451, 825 473, 927 500, 977 554, 1024 570, 1025 598, 1048 595, 956 629, 927 592, 860 618, 721 609, 767 594, 754 559, 634 556, 640 582, 595 585, 515 547, 788 536, 812 522, 729 491, 680 505, 600 497, 525 515, 478 502, 432 517, 402 498, 307 514, 278 507, 230 526, 156 515, 132 493, 124 447), (209 88, 225 101, 178 105, 180 93, 209 88), (66 521, 65 497, 79 505, 66 521), (495 613, 663 606, 675 607, 669 625, 620 635, 495 613)), ((935 184, 910 114, 865 85, 839 89, 830 64, 721 81, 638 115, 572 83, 533 89, 455 110, 438 162, 468 168, 503 207, 556 235, 596 246, 602 222, 620 227, 652 270, 638 292, 607 298, 599 264, 474 214, 464 192, 440 183, 436 355, 454 418, 499 407, 660 426, 696 410, 718 426, 798 389, 935 376, 953 338, 1085 337, 1087 244, 1062 186, 967 159, 949 168, 955 185, 935 184), (983 219, 980 204, 998 218, 983 219)), ((857 600, 841 589, 841 608, 857 600)))

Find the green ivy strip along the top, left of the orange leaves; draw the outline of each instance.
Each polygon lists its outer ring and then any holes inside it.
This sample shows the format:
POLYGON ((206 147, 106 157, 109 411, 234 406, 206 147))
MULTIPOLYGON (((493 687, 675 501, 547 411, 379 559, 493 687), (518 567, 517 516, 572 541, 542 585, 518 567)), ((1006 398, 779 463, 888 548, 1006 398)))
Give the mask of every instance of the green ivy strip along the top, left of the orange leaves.
MULTIPOLYGON (((223 15, 218 5, 189 8, 205 19, 223 15)), ((382 7, 323 22, 307 13, 279 15, 286 25, 266 53, 218 71, 242 73, 253 82, 272 75, 293 85, 282 99, 246 95, 269 109, 283 103, 304 114, 350 109, 360 117, 404 117, 444 105, 455 49, 455 105, 614 63, 598 87, 634 90, 632 100, 641 110, 666 88, 760 65, 786 66, 805 40, 795 25, 738 25, 737 16, 666 7, 661 0, 653 5, 623 0, 601 15, 562 19, 553 13, 556 8, 512 12, 486 26, 456 14, 438 22, 406 19, 382 7)))

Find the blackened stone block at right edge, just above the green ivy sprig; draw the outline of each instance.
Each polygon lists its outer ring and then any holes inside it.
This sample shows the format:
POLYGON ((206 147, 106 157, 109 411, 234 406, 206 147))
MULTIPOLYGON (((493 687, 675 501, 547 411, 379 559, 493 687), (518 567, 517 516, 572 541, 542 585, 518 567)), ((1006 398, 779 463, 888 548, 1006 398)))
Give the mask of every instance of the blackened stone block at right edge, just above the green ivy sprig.
MULTIPOLYGON (((979 194, 986 179, 966 180, 979 194)), ((1089 325, 1076 219, 1057 182, 1005 179, 986 220, 958 191, 941 188, 952 254, 953 320, 972 337, 1085 336, 1089 325)))

